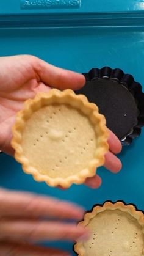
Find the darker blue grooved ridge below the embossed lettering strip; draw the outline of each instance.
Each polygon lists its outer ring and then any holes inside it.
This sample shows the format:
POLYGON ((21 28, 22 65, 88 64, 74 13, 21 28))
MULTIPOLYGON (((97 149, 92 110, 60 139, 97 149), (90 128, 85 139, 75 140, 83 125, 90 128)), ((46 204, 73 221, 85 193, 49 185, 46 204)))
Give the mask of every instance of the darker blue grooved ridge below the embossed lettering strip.
POLYGON ((0 15, 0 29, 38 27, 144 27, 144 12, 0 15))

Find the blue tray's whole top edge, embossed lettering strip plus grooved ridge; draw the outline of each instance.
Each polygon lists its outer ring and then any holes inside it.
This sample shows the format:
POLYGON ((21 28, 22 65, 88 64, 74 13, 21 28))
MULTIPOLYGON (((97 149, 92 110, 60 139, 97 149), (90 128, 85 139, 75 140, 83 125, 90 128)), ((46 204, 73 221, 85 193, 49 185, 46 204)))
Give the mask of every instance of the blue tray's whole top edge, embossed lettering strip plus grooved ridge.
POLYGON ((143 10, 144 0, 5 0, 0 29, 140 26, 143 10))

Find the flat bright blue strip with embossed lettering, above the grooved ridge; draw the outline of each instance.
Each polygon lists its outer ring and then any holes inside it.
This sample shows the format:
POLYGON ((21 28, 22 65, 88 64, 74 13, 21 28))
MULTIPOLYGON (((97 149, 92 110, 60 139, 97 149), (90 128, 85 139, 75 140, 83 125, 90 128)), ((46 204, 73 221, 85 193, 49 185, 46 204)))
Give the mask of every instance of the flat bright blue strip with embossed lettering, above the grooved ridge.
MULTIPOLYGON (((54 7, 53 10, 49 7, 51 7, 52 4, 46 4, 47 2, 77 2, 77 0, 4 0, 0 2, 0 12, 2 14, 19 14, 19 13, 39 13, 39 12, 63 12, 65 13, 66 10, 63 8, 63 11, 61 10, 60 4, 57 4, 57 8, 54 7), (23 6, 21 3, 26 3, 27 6, 33 6, 34 10, 25 10, 21 7, 23 6), (39 4, 38 4, 39 2, 39 4), (40 3, 41 2, 41 3, 40 3), (44 2, 44 4, 43 4, 44 2), (30 3, 30 4, 29 4, 30 3), (31 4, 32 3, 32 4, 31 4), (43 6, 43 9, 38 11, 38 5, 41 9, 41 6, 43 6), (35 11, 35 6, 37 8, 37 11, 35 11), (47 7, 46 7, 47 6, 47 7)), ((129 12, 129 11, 140 11, 144 10, 144 1, 143 0, 79 0, 81 2, 80 8, 75 10, 73 8, 70 8, 67 10, 67 12, 129 12), (73 10, 71 10, 73 9, 73 10)), ((54 6, 54 4, 53 4, 54 6)), ((74 5, 72 5, 74 7, 74 5)))

